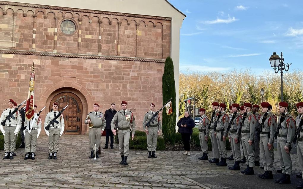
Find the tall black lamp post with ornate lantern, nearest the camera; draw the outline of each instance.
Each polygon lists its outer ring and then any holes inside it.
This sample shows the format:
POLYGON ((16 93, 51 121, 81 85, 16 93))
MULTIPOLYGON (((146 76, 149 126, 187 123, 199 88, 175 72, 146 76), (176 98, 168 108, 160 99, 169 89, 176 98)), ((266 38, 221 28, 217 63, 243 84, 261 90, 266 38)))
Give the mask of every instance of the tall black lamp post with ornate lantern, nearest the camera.
POLYGON ((289 66, 291 64, 284 64, 284 58, 283 54, 281 52, 281 58, 279 55, 276 54, 276 52, 273 52, 273 54, 269 58, 269 62, 272 68, 275 69, 275 73, 277 74, 279 71, 281 71, 281 102, 283 101, 283 70, 288 71, 289 66))

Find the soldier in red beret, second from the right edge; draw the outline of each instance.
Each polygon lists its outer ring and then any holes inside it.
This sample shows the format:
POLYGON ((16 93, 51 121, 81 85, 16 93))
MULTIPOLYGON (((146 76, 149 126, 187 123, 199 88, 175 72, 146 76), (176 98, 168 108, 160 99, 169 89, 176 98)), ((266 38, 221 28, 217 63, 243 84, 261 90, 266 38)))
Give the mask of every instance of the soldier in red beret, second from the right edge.
POLYGON ((280 116, 277 124, 277 149, 280 159, 280 167, 283 176, 276 179, 276 183, 290 184, 290 175, 292 173, 292 163, 290 157, 291 142, 295 138, 296 122, 288 113, 288 104, 286 102, 279 103, 280 116))

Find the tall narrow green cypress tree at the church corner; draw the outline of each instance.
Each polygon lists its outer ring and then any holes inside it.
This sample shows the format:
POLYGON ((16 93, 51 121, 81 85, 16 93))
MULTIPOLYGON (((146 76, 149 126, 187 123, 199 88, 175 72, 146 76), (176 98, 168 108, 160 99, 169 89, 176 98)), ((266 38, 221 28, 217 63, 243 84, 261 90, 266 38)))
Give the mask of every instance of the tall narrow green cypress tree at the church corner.
POLYGON ((166 114, 166 109, 163 110, 162 117, 162 133, 165 142, 170 144, 175 143, 175 133, 176 133, 176 85, 175 85, 175 75, 174 75, 174 64, 170 57, 166 58, 164 65, 164 74, 162 76, 162 96, 163 104, 166 103, 170 98, 172 98, 172 110, 173 113, 170 115, 166 114))

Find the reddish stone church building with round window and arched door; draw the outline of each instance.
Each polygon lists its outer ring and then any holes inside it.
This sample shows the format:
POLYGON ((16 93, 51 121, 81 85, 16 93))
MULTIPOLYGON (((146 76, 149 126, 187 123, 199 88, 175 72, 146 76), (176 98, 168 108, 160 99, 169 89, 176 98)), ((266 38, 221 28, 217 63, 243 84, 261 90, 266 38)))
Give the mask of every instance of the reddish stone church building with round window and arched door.
POLYGON ((178 103, 184 18, 167 0, 0 1, 0 108, 10 98, 27 98, 34 62, 35 104, 46 106, 43 122, 50 104, 69 104, 65 134, 86 134, 84 119, 94 103, 105 112, 111 103, 120 110, 125 100, 142 129, 149 104, 162 106, 168 56, 178 103))

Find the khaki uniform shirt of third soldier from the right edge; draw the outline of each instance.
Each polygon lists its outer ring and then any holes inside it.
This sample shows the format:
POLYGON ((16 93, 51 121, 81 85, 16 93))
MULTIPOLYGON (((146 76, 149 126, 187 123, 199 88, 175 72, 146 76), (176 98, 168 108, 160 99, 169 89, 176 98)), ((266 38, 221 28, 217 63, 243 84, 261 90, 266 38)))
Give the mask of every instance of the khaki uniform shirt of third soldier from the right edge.
MULTIPOLYGON (((277 117, 274 114, 272 114, 271 112, 268 112, 267 116, 265 116, 265 115, 261 116, 261 118, 259 120, 259 124, 260 124, 260 127, 262 127, 261 128, 262 132, 266 132, 266 133, 269 132, 268 143, 272 144, 274 141, 275 133, 277 131, 277 117), (263 122, 263 125, 262 125, 262 122, 263 122)), ((264 134, 261 134, 261 135, 264 135, 264 134)))

